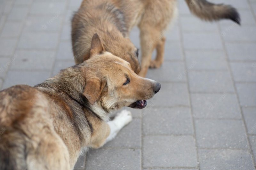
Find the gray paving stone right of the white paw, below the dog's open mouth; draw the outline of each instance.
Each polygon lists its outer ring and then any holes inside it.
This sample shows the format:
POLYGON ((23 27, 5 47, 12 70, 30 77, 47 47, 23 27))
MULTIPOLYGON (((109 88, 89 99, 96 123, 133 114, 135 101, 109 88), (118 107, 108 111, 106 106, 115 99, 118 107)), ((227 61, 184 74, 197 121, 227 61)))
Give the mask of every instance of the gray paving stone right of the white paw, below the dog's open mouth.
POLYGON ((143 110, 144 135, 193 135, 190 108, 147 108, 143 110))

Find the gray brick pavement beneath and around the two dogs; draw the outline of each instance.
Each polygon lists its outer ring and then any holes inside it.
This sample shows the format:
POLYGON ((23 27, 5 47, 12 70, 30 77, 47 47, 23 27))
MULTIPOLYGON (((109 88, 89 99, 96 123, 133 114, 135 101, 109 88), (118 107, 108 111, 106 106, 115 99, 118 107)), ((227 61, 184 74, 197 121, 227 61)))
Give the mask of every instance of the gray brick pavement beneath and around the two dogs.
MULTIPOLYGON (((224 0, 212 0, 224 3, 224 0)), ((70 18, 81 0, 0 1, 0 89, 35 85, 74 64, 70 18)), ((256 1, 226 0, 242 17, 206 23, 179 0, 164 65, 149 70, 162 89, 77 170, 252 170, 256 162, 256 1)), ((139 47, 139 31, 131 39, 139 47)), ((126 108, 128 109, 128 108, 126 108)))

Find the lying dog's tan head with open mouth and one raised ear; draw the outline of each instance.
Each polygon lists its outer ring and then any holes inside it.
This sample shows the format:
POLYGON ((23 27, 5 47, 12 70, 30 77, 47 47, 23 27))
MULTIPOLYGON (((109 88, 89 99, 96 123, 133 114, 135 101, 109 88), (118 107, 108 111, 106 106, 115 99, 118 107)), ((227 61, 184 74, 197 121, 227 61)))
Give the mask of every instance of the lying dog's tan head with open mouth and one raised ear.
POLYGON ((160 90, 158 82, 138 76, 129 62, 106 52, 97 34, 84 65, 84 96, 107 111, 124 106, 142 109, 160 90))

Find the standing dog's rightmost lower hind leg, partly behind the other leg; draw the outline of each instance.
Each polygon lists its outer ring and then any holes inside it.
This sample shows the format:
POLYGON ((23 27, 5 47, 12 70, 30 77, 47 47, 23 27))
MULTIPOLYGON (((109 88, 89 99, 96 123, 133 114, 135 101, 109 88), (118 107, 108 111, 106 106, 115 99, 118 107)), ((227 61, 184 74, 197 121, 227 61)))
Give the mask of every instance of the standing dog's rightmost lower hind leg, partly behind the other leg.
POLYGON ((165 37, 161 38, 156 45, 156 59, 151 60, 149 68, 159 68, 164 62, 165 37))

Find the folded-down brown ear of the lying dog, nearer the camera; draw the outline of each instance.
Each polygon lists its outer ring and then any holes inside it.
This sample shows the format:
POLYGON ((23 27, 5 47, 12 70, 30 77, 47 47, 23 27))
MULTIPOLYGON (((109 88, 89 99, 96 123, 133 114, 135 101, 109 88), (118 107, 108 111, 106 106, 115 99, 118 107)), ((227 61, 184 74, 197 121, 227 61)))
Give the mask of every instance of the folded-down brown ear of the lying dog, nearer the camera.
POLYGON ((100 81, 99 78, 86 80, 83 94, 91 104, 94 104, 98 100, 105 84, 105 81, 100 81))

